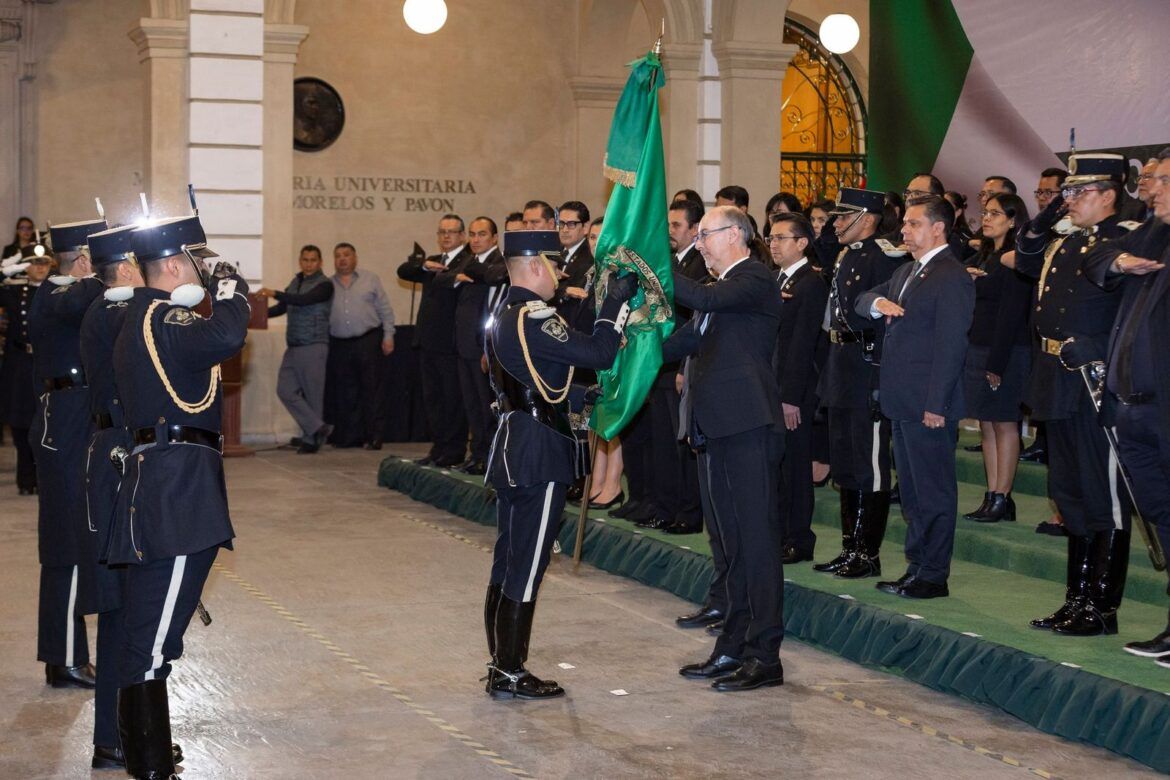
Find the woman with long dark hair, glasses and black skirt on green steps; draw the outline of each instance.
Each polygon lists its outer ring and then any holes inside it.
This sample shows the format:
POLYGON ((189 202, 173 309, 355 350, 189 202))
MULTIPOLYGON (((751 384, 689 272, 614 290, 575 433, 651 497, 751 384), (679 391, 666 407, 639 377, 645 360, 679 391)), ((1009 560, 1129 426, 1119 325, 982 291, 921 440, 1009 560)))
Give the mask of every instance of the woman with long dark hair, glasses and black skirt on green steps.
POLYGON ((1020 453, 1020 401, 1027 381, 1028 309, 1032 282, 1000 263, 1027 223, 1027 206, 1016 195, 991 198, 983 212, 979 250, 969 261, 975 277, 975 319, 969 333, 964 391, 968 416, 979 421, 987 491, 965 515, 979 523, 1016 519, 1012 482, 1020 453))

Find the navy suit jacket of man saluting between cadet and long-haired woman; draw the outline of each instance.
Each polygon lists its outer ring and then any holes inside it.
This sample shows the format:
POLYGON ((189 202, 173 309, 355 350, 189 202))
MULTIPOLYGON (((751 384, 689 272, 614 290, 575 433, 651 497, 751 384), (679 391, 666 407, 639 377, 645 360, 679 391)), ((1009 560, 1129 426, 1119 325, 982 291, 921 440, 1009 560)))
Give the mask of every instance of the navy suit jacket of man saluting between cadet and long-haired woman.
MULTIPOLYGON (((858 298, 856 312, 869 316, 878 298, 897 301, 914 270, 906 263, 888 282, 858 298)), ((975 282, 950 248, 935 255, 906 292, 906 313, 886 325, 879 388, 881 410, 890 420, 922 420, 925 412, 948 420, 963 416, 963 361, 975 313, 975 282)))

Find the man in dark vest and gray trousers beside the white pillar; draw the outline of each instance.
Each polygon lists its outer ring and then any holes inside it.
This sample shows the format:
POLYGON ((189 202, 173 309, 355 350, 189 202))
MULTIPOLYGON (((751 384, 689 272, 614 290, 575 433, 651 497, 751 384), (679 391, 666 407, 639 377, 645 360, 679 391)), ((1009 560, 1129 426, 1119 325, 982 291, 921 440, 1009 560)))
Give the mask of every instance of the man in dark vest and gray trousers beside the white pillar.
POLYGON ((329 357, 329 312, 333 284, 321 270, 321 249, 301 248, 301 272, 284 290, 263 288, 261 295, 276 298, 269 317, 289 317, 288 350, 281 360, 276 395, 301 426, 303 436, 294 439, 297 453, 316 453, 333 427, 322 419, 325 406, 325 360, 329 357))

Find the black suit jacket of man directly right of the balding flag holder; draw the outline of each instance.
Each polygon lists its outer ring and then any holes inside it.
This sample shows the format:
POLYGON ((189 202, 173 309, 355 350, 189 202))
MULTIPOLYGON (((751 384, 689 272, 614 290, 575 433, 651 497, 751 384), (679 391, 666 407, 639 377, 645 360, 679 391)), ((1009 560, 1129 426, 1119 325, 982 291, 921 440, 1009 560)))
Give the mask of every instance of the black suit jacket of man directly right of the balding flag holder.
POLYGON ((818 354, 823 357, 824 350, 819 347, 826 340, 821 322, 828 285, 812 263, 806 262, 780 285, 780 331, 772 359, 780 401, 807 407, 817 400, 818 354))

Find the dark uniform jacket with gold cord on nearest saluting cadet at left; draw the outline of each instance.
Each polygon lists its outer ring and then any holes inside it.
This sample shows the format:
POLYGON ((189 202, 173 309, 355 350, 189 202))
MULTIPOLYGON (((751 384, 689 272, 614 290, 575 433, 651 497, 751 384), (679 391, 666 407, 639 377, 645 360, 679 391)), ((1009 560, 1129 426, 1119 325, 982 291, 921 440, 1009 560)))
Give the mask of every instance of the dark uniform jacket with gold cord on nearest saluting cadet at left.
POLYGON ((243 347, 248 327, 248 284, 240 276, 212 288, 212 313, 201 317, 170 302, 170 295, 140 288, 126 310, 113 346, 113 378, 133 434, 153 428, 159 442, 136 446, 118 492, 108 559, 138 564, 232 546, 223 457, 199 443, 168 443, 165 428, 187 426, 219 433, 221 382, 213 367, 243 347), (153 346, 151 346, 153 341, 153 346), (180 408, 174 394, 195 405, 211 391, 207 408, 180 408))

